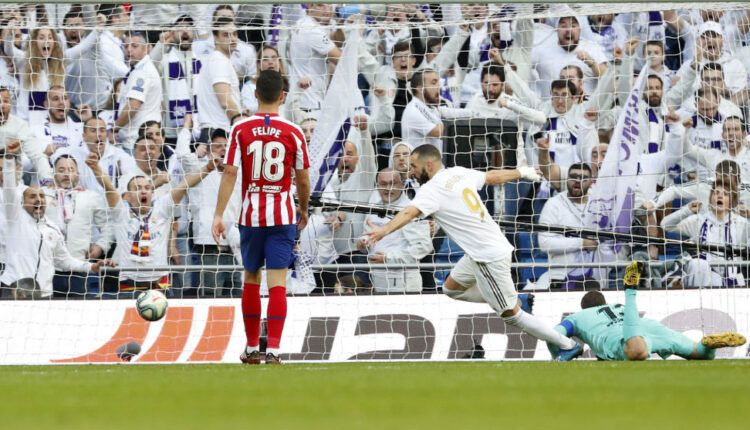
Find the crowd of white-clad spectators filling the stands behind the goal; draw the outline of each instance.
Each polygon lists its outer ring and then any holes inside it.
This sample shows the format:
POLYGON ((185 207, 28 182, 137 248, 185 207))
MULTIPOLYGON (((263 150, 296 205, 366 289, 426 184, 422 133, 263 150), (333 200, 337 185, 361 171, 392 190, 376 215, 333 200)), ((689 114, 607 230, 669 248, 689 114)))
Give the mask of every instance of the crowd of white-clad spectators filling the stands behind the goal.
MULTIPOLYGON (((519 223, 506 228, 517 262, 571 265, 521 266, 519 288, 616 288, 617 271, 597 263, 632 258, 670 262, 654 266, 655 288, 744 286, 741 267, 710 264, 732 252, 659 242, 741 248, 750 233, 750 10, 697 6, 589 15, 531 4, 3 5, 2 297, 239 295, 241 271, 226 269, 239 261, 237 229, 220 244, 210 233, 232 123, 257 110, 257 73, 276 70, 288 80, 282 115, 311 144, 352 31, 366 107, 350 118, 324 199, 408 206, 419 187, 409 154, 421 145, 449 166, 536 166, 541 184, 481 192, 496 219, 519 223), (639 174, 622 178, 636 184, 636 239, 613 247, 522 228, 584 226, 597 178, 617 175, 603 161, 644 69, 648 143, 639 174)), ((289 290, 436 291, 443 272, 414 265, 462 251, 431 220, 368 247, 363 235, 388 219, 316 210, 289 290)))

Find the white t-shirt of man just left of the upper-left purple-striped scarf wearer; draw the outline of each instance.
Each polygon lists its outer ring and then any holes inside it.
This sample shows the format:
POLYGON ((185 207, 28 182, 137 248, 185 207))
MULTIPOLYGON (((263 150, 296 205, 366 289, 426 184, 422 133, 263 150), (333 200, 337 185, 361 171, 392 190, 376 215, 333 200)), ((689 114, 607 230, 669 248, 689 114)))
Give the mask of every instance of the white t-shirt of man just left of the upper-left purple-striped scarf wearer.
POLYGON ((146 55, 138 62, 130 73, 125 77, 120 88, 120 97, 117 101, 117 114, 122 115, 122 110, 128 99, 138 100, 141 107, 135 116, 130 119, 125 127, 120 129, 119 137, 126 149, 133 149, 135 140, 138 138, 138 128, 146 121, 161 122, 162 88, 159 71, 156 70, 151 57, 146 55))

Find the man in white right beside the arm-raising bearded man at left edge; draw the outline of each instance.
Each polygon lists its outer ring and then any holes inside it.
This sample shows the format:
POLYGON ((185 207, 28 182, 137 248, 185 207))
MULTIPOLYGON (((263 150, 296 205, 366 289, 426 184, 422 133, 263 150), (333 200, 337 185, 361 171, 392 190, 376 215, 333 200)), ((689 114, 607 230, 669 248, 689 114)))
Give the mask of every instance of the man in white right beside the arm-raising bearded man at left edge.
MULTIPOLYGON (((45 216, 62 233, 73 258, 99 260, 109 250, 112 223, 104 198, 78 183, 78 161, 59 154, 53 163, 54 181, 43 187, 47 198, 45 216)), ((53 280, 56 297, 76 298, 86 293, 86 278, 74 272, 58 272, 53 280)))

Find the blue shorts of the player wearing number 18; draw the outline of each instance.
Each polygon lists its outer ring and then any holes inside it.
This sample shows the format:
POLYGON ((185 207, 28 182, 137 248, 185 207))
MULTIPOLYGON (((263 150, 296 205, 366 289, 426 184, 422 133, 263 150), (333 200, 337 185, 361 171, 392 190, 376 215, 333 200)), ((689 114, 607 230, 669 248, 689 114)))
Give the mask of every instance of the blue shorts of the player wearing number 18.
POLYGON ((257 272, 264 261, 266 269, 287 269, 294 262, 296 225, 239 228, 242 265, 248 272, 257 272))

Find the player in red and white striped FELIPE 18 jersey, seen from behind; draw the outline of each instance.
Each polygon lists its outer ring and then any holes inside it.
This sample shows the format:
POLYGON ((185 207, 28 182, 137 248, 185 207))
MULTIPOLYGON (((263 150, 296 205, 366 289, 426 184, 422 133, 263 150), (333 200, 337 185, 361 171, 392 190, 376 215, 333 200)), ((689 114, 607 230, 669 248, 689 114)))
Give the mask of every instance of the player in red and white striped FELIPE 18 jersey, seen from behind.
POLYGON ((286 319, 286 272, 294 259, 297 232, 292 179, 297 187, 299 229, 307 224, 310 176, 307 144, 302 130, 279 117, 284 102, 284 80, 264 70, 255 90, 258 113, 234 124, 219 187, 212 233, 217 243, 225 237, 224 209, 242 168, 240 247, 245 283, 242 313, 247 347, 240 360, 260 363, 260 269, 265 263, 269 286, 266 363, 280 363, 279 345, 286 319))

